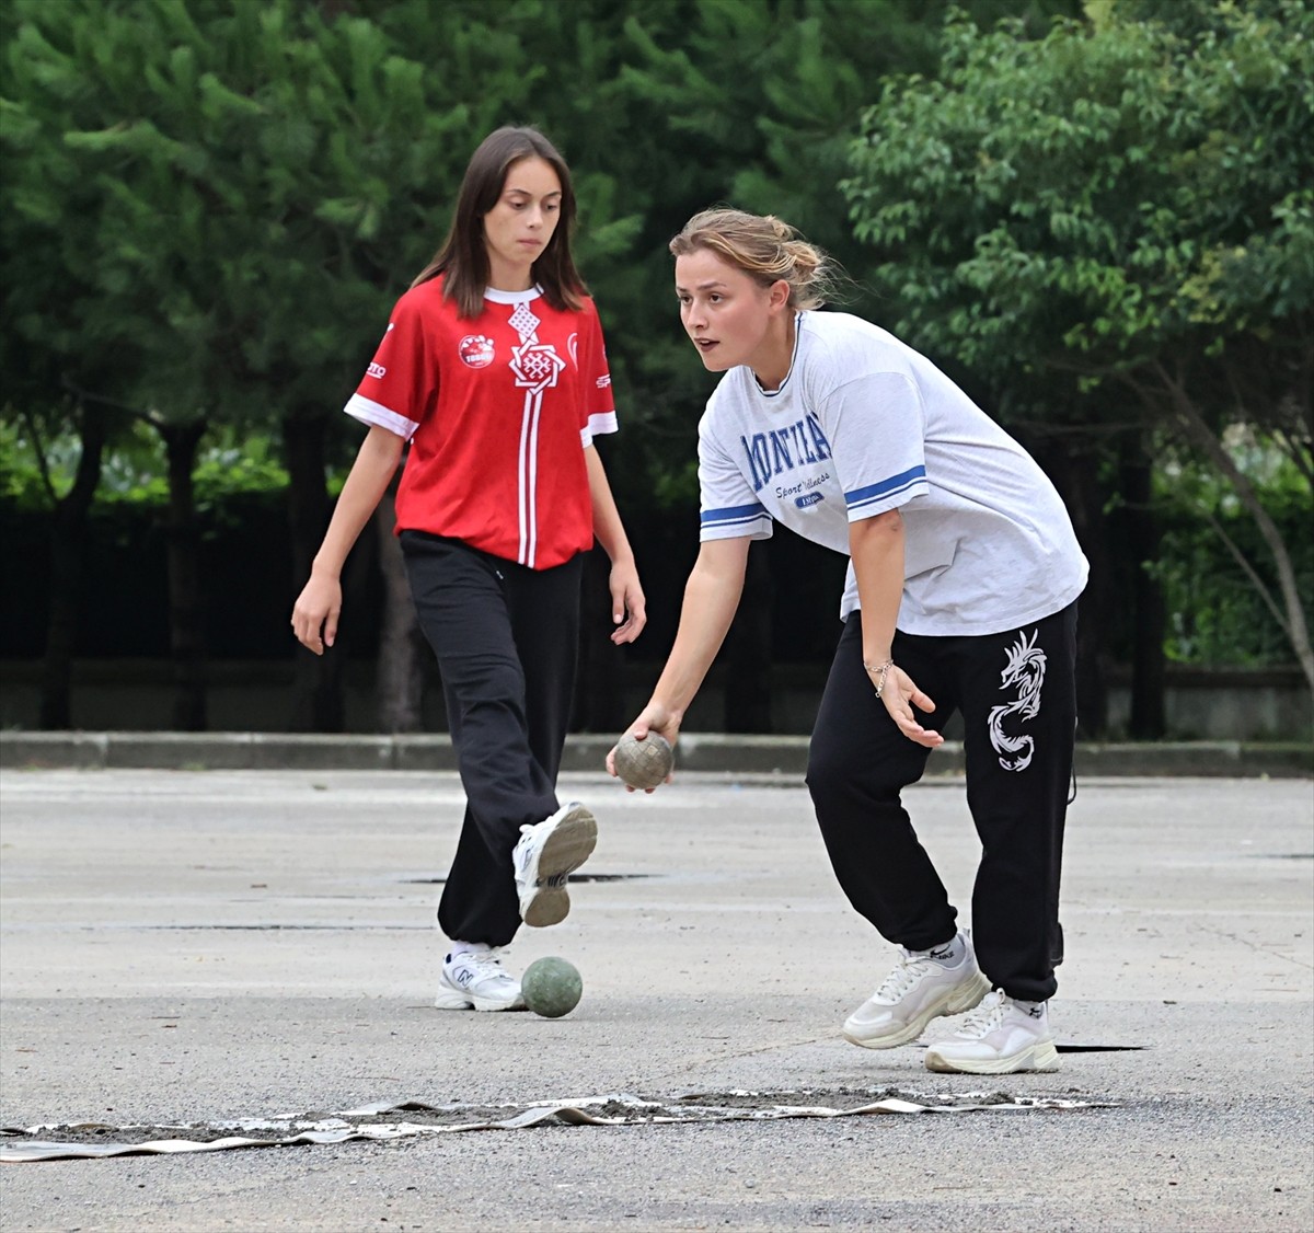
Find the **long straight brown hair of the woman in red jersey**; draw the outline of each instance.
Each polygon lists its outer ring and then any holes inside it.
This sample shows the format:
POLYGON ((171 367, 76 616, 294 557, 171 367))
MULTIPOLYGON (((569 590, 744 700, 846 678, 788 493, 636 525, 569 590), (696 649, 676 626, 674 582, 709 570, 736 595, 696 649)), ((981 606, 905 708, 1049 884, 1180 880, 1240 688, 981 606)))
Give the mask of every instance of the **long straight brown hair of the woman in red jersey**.
POLYGON ((461 317, 484 312, 484 292, 489 285, 489 252, 484 238, 484 216, 498 204, 507 172, 522 159, 540 158, 561 181, 561 218, 552 239, 533 263, 532 276, 544 298, 555 309, 577 310, 589 293, 570 256, 570 230, 574 226, 576 197, 570 168, 537 129, 502 128, 480 142, 470 155, 456 198, 456 213, 443 246, 417 276, 411 287, 445 273, 443 296, 456 301, 461 317))

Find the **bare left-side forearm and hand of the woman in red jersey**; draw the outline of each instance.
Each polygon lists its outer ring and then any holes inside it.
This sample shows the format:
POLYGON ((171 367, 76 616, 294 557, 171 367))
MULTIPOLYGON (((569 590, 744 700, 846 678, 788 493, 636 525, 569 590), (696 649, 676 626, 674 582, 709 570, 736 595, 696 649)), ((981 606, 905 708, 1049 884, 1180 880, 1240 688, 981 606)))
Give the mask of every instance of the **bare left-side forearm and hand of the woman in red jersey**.
POLYGON ((310 567, 310 581, 292 609, 292 630, 297 641, 315 655, 323 655, 325 647, 331 647, 338 638, 342 567, 396 475, 402 446, 405 442, 396 432, 376 425, 360 443, 356 461, 351 464, 328 530, 310 567))

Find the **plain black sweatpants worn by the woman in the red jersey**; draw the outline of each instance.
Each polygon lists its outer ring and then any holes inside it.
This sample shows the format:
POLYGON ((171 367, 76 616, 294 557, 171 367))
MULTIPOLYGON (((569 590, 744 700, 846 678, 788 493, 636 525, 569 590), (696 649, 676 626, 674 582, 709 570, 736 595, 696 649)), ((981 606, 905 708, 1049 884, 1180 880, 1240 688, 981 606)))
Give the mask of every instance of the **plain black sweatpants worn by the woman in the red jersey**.
POLYGON ((583 557, 528 569, 422 531, 402 531, 401 546, 466 799, 438 923, 449 939, 505 946, 520 927, 511 849, 522 824, 557 808, 583 557))

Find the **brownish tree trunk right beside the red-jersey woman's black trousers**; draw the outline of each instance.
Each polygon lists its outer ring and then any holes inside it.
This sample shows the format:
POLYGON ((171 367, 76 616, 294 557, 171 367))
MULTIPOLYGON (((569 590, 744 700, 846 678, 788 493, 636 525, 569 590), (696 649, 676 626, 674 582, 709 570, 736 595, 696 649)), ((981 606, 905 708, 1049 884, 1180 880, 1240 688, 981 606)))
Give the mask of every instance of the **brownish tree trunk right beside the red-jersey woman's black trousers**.
POLYGON ((380 732, 419 732, 423 727, 424 636, 415 619, 397 522, 396 481, 374 510, 378 570, 384 578, 384 616, 374 673, 380 732))

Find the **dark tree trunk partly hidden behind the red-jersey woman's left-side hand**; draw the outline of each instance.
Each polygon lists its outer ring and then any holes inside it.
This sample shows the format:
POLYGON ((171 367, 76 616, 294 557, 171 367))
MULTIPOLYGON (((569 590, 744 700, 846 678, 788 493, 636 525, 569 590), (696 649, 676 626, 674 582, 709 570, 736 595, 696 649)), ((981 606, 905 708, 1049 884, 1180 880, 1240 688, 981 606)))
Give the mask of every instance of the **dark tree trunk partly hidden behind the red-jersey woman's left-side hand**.
MULTIPOLYGON (((284 461, 288 468, 288 523, 292 538, 292 592, 294 597, 310 577, 310 563, 325 528, 328 526, 330 501, 325 486, 323 415, 289 415, 283 422, 284 461)), ((346 570, 343 570, 346 573, 346 570)), ((314 655, 297 644, 292 682, 292 710, 288 727, 293 732, 340 732, 344 723, 340 648, 314 655)))

